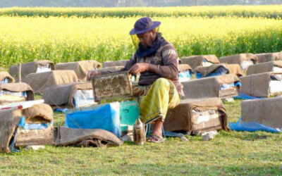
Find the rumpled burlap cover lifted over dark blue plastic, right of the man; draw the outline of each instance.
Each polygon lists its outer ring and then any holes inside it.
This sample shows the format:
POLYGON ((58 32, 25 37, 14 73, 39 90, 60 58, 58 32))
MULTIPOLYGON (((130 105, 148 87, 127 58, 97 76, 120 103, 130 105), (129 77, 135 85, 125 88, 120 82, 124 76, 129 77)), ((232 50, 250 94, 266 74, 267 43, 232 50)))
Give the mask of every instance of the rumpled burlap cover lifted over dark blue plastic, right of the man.
POLYGON ((226 63, 219 63, 219 64, 214 64, 214 65, 210 65, 207 67, 196 67, 194 69, 195 72, 197 73, 202 73, 202 77, 207 77, 209 74, 214 73, 214 71, 216 71, 216 69, 218 68, 226 68, 228 70, 228 73, 234 73, 235 75, 237 75, 238 77, 243 76, 243 70, 240 67, 240 65, 238 64, 226 64, 226 63))

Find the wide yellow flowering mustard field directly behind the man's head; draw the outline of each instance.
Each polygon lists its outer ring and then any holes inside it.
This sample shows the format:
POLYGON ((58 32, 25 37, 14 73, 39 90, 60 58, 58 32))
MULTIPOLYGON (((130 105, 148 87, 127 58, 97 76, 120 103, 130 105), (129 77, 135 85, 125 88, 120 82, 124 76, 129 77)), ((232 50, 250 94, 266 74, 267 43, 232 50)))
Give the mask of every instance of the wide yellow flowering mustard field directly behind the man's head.
MULTIPOLYGON (((129 31, 138 17, 0 16, 0 62, 49 59, 55 63, 128 59, 134 52, 129 31)), ((178 55, 281 51, 282 20, 243 17, 154 17, 178 55)))

